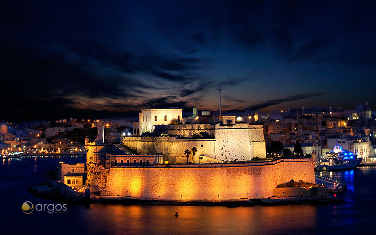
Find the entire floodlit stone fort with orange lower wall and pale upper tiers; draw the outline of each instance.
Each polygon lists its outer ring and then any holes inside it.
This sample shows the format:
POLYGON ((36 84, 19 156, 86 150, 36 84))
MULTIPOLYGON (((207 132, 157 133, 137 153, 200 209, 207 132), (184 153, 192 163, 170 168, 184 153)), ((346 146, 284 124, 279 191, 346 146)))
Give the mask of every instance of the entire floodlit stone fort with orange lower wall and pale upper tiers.
MULTIPOLYGON (((182 117, 176 110, 170 116, 151 111, 165 118, 182 117)), ((151 120, 158 121, 159 116, 151 120)), ((126 136, 122 145, 105 145, 103 127, 98 127, 94 142, 86 140, 86 184, 98 186, 102 196, 229 201, 271 197, 278 184, 291 179, 315 183, 311 159, 265 158, 260 124, 149 126, 150 117, 140 114, 140 118, 148 122, 140 123, 144 135, 126 136), (195 153, 185 151, 194 148, 195 153), (255 157, 265 161, 252 162, 255 157)))

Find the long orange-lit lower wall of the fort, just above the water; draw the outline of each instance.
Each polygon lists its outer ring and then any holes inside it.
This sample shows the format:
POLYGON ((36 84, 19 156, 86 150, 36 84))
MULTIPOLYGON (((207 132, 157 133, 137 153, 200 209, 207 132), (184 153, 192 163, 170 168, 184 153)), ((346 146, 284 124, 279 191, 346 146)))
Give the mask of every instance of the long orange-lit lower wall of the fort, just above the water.
POLYGON ((158 200, 231 200, 273 196, 290 181, 315 183, 314 162, 286 159, 267 163, 113 167, 106 194, 158 200), (247 195, 248 194, 248 195, 247 195), (182 197, 181 197, 182 196, 182 197))

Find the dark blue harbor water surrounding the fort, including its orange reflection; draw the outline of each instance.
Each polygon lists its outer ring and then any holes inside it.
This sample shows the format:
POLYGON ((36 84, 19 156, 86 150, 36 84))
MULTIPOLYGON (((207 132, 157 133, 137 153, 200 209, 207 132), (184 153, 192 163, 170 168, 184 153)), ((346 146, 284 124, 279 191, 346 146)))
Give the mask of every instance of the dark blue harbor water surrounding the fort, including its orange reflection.
MULTIPOLYGON (((322 172, 347 183, 335 195, 346 203, 331 205, 253 206, 122 206, 67 205, 49 213, 21 206, 61 204, 34 197, 28 187, 44 180, 45 170, 59 161, 85 162, 85 157, 23 157, 0 163, 1 234, 374 234, 376 168, 322 172), (179 216, 175 217, 175 210, 179 216)), ((320 173, 316 173, 320 174, 320 173)))

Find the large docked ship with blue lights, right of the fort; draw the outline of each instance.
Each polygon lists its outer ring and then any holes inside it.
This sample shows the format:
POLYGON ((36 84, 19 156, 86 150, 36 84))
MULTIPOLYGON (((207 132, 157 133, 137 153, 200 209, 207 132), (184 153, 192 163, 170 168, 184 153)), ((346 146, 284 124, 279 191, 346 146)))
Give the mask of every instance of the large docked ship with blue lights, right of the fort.
POLYGON ((363 158, 357 157, 353 152, 336 145, 328 155, 318 160, 317 170, 333 171, 356 168, 362 160, 363 158))

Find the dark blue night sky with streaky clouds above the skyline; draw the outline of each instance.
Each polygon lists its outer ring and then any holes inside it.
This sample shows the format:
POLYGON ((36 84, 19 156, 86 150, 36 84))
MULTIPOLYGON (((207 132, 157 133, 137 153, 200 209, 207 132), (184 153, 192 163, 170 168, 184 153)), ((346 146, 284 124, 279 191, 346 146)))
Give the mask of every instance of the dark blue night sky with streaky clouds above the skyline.
POLYGON ((376 1, 1 1, 0 118, 376 107, 376 1))

